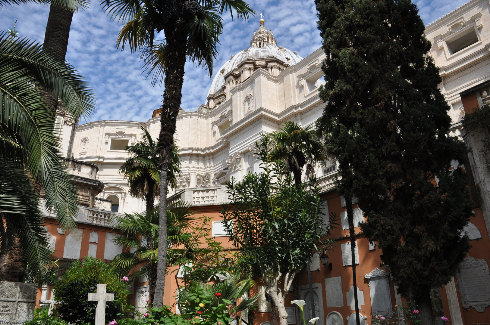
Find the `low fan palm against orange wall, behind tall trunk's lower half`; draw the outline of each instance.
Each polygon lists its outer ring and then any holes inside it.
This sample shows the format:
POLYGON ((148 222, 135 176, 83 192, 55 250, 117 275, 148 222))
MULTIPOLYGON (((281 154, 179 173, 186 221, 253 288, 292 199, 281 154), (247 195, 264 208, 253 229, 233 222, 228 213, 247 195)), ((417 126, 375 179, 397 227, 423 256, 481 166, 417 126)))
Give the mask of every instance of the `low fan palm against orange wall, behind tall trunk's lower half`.
MULTIPOLYGON (((183 201, 169 206, 167 211, 167 228, 169 231, 167 246, 182 244, 187 232, 195 222, 191 204, 183 201)), ((124 237, 116 238, 116 243, 123 245, 129 252, 114 257, 113 270, 121 277, 129 274, 132 268, 141 265, 133 277, 147 276, 150 301, 153 302, 157 277, 158 259, 158 228, 159 213, 157 209, 147 214, 126 214, 117 218, 116 228, 123 232, 124 237)))

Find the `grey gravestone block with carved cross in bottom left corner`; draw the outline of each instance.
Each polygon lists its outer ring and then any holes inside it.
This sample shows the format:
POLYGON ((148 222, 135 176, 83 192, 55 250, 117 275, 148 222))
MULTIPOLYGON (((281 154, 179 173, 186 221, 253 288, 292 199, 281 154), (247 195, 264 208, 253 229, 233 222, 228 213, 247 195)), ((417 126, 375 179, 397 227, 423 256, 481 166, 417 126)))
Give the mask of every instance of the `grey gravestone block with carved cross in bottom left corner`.
POLYGON ((0 324, 17 325, 32 320, 37 284, 0 282, 0 324))

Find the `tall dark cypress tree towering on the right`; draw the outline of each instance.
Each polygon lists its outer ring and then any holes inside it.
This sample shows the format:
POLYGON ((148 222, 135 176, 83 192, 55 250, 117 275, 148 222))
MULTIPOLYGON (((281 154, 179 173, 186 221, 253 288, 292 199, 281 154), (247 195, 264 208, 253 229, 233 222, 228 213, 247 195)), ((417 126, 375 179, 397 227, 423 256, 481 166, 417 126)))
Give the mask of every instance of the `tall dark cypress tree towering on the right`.
POLYGON ((432 324, 430 290, 469 250, 466 147, 449 136, 449 106, 431 43, 410 0, 316 0, 327 103, 318 125, 339 161, 339 188, 368 216, 399 292, 432 324), (455 168, 452 168, 455 167, 455 168))

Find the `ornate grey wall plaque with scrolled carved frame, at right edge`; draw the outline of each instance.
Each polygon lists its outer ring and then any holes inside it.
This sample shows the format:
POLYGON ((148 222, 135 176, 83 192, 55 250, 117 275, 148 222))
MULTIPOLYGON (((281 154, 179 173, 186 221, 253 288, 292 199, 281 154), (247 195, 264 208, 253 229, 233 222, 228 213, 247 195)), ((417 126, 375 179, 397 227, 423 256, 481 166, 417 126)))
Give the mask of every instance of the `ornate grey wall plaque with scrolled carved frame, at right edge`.
POLYGON ((490 274, 486 260, 466 257, 456 272, 461 304, 483 313, 490 306, 490 274))

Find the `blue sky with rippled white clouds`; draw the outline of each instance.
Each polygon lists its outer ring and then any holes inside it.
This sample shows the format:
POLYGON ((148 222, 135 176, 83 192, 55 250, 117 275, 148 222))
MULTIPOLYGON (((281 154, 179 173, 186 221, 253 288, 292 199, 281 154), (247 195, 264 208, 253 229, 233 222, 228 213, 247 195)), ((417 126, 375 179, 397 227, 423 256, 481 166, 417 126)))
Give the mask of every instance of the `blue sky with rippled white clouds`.
MULTIPOLYGON (((415 0, 424 23, 430 23, 466 0, 415 0)), ((266 27, 274 32, 278 46, 306 57, 321 46, 314 0, 250 0, 257 13, 263 13, 266 27)), ((49 7, 30 4, 0 10, 0 30, 11 28, 18 19, 20 35, 43 42, 49 7)), ((249 47, 252 32, 260 17, 250 21, 232 21, 224 16, 224 33, 218 46, 215 73, 230 55, 249 47)), ((146 121, 161 105, 162 87, 152 87, 143 74, 138 55, 115 48, 121 24, 102 12, 98 1, 89 10, 73 15, 67 60, 82 73, 97 94, 98 110, 89 121, 118 119, 146 121)), ((192 109, 203 104, 211 86, 208 72, 187 64, 182 105, 192 109)), ((85 121, 82 121, 85 122, 85 121)))

